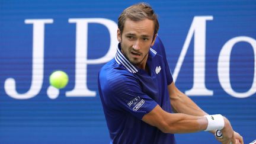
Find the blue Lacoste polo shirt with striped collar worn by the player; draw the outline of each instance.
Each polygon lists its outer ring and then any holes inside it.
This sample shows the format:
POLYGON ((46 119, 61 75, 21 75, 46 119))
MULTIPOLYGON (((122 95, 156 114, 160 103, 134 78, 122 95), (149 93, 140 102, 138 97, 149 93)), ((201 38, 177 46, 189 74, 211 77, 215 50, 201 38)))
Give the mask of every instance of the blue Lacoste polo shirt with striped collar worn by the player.
POLYGON ((99 72, 98 89, 110 143, 175 143, 173 134, 142 121, 157 104, 172 112, 167 86, 173 79, 159 37, 149 51, 146 65, 149 72, 132 65, 121 53, 119 44, 115 58, 99 72))

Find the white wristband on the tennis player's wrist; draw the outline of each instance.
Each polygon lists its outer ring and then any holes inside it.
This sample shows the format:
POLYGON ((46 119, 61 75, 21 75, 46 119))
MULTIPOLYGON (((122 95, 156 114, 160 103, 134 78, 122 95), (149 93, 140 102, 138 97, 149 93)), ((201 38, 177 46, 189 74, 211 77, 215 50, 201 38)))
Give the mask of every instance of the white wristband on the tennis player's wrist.
POLYGON ((210 130, 222 130, 224 127, 224 119, 221 114, 206 115, 204 116, 208 120, 208 126, 204 131, 210 130))

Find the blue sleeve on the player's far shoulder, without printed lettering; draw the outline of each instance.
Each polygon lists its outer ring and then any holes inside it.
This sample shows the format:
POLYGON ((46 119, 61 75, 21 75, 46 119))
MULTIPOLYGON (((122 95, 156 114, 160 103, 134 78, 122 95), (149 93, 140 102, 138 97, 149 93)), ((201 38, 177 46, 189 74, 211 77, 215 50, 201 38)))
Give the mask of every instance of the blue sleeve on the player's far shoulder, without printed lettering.
POLYGON ((160 55, 162 55, 165 63, 165 73, 167 76, 167 85, 171 84, 173 81, 171 70, 169 68, 168 62, 167 62, 167 56, 165 54, 165 47, 164 44, 162 43, 161 39, 159 36, 156 37, 155 44, 152 47, 153 49, 156 50, 156 52, 159 52, 160 55))

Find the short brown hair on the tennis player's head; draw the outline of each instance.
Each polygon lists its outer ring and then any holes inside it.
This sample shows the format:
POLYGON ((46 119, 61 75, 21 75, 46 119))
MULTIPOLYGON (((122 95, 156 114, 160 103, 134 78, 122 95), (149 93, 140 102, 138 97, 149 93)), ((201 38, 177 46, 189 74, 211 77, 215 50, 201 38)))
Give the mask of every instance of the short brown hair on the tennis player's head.
POLYGON ((149 4, 146 4, 145 2, 132 5, 124 9, 123 12, 121 12, 118 19, 118 28, 121 34, 123 33, 124 23, 127 20, 127 18, 129 18, 132 21, 141 21, 141 20, 145 20, 145 18, 148 18, 149 20, 153 20, 153 23, 155 24, 153 38, 155 38, 155 34, 158 33, 158 29, 159 29, 158 17, 155 11, 153 11, 152 7, 149 4))

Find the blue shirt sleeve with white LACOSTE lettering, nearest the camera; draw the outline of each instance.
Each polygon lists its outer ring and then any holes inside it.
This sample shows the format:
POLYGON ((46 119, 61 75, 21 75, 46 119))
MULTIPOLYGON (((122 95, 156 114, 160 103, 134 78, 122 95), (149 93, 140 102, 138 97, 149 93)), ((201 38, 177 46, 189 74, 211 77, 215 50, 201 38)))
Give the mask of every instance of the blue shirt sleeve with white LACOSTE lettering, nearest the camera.
POLYGON ((108 81, 108 89, 108 105, 127 111, 137 119, 142 119, 158 105, 149 95, 142 92, 136 77, 129 72, 112 76, 108 81))

